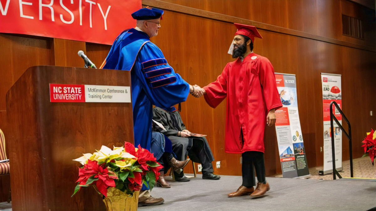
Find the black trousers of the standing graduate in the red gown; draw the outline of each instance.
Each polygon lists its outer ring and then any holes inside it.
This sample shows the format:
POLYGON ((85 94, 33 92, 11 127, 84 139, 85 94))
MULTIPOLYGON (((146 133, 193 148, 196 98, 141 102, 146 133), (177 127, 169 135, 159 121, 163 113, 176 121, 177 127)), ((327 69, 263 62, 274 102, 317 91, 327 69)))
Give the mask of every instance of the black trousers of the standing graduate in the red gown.
POLYGON ((255 168, 257 180, 262 183, 266 183, 265 179, 265 162, 264 153, 258 151, 247 151, 241 154, 242 166, 241 173, 243 176, 243 186, 250 188, 256 185, 255 168))

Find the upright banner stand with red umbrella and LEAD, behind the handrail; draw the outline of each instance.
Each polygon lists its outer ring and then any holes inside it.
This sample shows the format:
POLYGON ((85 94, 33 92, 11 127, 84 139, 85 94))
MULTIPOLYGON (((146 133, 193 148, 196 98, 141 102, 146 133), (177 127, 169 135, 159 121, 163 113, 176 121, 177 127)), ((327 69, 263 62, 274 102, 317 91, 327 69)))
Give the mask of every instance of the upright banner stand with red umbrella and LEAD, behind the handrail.
MULTIPOLYGON (((341 75, 321 73, 321 83, 323 90, 323 116, 324 116, 324 170, 319 171, 320 175, 333 173, 332 164, 332 137, 330 127, 330 104, 337 102, 342 109, 342 88, 341 75)), ((342 116, 333 105, 335 117, 342 124, 342 116)), ((335 166, 338 171, 342 170, 342 132, 337 123, 333 121, 334 145, 335 145, 335 166)))

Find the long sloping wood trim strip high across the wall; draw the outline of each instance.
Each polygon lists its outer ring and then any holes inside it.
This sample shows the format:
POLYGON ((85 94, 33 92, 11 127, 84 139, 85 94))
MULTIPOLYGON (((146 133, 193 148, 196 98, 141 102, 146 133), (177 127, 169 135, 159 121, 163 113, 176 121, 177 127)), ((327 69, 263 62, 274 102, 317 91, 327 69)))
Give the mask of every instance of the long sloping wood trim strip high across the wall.
POLYGON ((142 4, 144 6, 152 6, 155 8, 161 8, 161 9, 166 9, 170 11, 175 11, 175 12, 181 12, 184 14, 188 15, 195 15, 198 17, 203 17, 203 18, 210 18, 213 20, 218 20, 218 21, 224 21, 224 22, 229 22, 229 23, 241 23, 241 24, 247 24, 247 25, 252 25, 256 26, 259 29, 264 29, 272 32, 277 32, 277 33, 283 33, 287 35, 293 35, 293 36, 298 36, 302 38, 307 38, 307 39, 313 39, 317 41, 322 41, 322 42, 328 42, 336 45, 342 45, 350 48, 357 48, 361 50, 366 50, 366 51, 371 51, 371 52, 376 52, 376 48, 370 47, 370 46, 365 46, 365 45, 359 45, 351 42, 346 42, 346 41, 341 41, 338 39, 333 39, 333 38, 327 38, 323 36, 318 36, 306 32, 301 32, 293 29, 287 29, 284 27, 279 27, 279 26, 274 26, 270 24, 265 24, 265 23, 260 23, 257 21, 251 21, 243 18, 237 18, 229 15, 223 15, 215 12, 209 12, 209 11, 204 11, 200 9, 195 9, 195 8, 190 8, 182 5, 176 5, 173 3, 168 3, 168 2, 163 2, 160 0, 142 0, 142 4))

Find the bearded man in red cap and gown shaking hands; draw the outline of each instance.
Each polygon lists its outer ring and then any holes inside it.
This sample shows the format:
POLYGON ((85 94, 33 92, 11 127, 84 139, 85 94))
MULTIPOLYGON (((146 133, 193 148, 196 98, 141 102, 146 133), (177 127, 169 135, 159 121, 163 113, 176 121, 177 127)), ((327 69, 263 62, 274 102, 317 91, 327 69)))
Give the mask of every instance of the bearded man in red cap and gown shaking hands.
POLYGON ((282 104, 273 66, 266 57, 252 51, 255 37, 262 36, 254 26, 235 26, 238 31, 232 43, 232 57, 236 60, 227 63, 217 80, 203 87, 202 92, 213 108, 227 98, 225 150, 242 153, 243 184, 228 196, 258 197, 270 189, 265 179, 265 126, 274 125, 274 111, 282 104))

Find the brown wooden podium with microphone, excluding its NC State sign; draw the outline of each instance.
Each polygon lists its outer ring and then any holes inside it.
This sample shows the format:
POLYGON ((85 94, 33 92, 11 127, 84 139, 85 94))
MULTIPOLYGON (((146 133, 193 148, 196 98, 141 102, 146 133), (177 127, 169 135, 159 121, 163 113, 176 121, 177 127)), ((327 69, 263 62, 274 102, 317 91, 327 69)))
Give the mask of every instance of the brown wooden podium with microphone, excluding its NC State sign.
POLYGON ((132 103, 50 102, 49 84, 130 86, 130 72, 34 66, 6 95, 12 210, 104 210, 93 187, 71 197, 80 163, 102 145, 133 143, 132 103))

